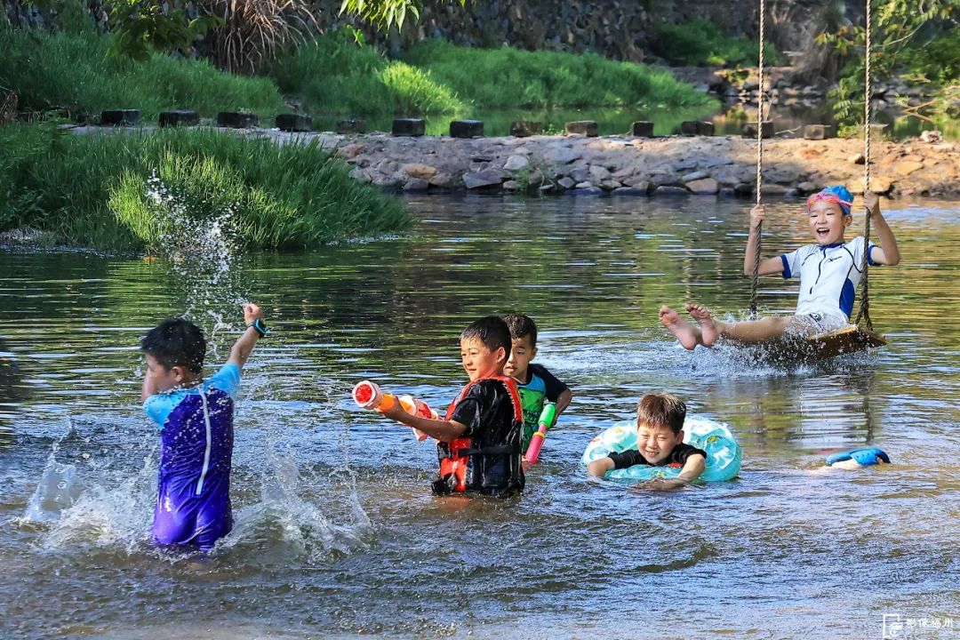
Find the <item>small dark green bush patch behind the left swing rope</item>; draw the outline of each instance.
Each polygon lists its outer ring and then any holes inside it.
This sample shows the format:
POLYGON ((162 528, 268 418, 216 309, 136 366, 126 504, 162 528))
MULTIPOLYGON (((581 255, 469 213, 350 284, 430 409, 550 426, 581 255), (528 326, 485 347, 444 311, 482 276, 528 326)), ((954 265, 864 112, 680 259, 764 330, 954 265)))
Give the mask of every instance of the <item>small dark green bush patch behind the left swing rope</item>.
MULTIPOLYGON (((708 20, 662 24, 651 38, 653 53, 671 64, 701 66, 756 66, 760 48, 756 40, 724 36, 708 20)), ((769 42, 763 47, 767 64, 778 64, 780 54, 769 42)))

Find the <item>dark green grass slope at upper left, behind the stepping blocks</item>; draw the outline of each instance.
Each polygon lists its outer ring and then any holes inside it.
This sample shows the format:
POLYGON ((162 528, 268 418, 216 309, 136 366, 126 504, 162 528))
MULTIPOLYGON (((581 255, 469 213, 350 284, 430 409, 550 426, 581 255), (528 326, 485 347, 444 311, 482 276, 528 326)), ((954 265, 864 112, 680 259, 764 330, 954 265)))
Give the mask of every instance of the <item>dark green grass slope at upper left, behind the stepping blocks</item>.
POLYGON ((0 85, 17 94, 21 109, 65 108, 76 119, 105 108, 139 108, 146 122, 174 108, 211 117, 219 111, 274 115, 283 109, 268 79, 230 75, 204 60, 114 59, 108 46, 107 36, 92 32, 0 29, 0 85))

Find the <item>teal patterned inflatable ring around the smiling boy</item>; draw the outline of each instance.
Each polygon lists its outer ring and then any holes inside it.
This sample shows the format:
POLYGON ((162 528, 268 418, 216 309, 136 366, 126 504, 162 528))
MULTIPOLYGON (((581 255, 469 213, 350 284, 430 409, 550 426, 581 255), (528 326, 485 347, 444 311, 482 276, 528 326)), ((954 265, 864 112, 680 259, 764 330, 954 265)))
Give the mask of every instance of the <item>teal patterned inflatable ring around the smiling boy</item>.
MULTIPOLYGON (((726 424, 688 415, 684 422, 684 442, 707 452, 707 468, 698 480, 719 482, 735 478, 740 472, 743 452, 726 424)), ((636 421, 624 420, 590 440, 580 462, 589 464, 612 453, 636 449, 636 421)), ((653 480, 676 478, 680 467, 636 464, 628 469, 613 469, 607 478, 614 480, 653 480)))

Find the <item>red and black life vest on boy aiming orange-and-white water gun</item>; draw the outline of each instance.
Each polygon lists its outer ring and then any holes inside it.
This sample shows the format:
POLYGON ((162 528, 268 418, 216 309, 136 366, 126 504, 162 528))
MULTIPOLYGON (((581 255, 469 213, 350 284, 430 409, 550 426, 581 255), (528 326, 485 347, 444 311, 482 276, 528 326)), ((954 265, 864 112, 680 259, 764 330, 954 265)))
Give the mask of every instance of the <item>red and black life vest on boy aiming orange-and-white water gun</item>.
POLYGON ((450 419, 457 404, 467 396, 467 392, 473 385, 485 381, 497 381, 507 389, 514 409, 513 423, 505 436, 494 441, 481 436, 482 441, 458 438, 450 442, 438 442, 440 475, 433 483, 436 494, 463 493, 472 490, 494 495, 509 495, 523 488, 524 477, 520 467, 523 407, 513 378, 495 375, 469 383, 450 403, 445 419, 450 419))

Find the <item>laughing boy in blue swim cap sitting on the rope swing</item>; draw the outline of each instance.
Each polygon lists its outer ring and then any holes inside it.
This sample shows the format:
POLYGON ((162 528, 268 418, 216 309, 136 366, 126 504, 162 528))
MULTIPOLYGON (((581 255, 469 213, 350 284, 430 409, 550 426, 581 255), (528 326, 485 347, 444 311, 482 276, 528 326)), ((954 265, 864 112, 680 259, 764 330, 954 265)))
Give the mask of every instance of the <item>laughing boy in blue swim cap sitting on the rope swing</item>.
MULTIPOLYGON (((783 279, 800 276, 800 296, 793 316, 721 322, 714 320, 706 307, 687 304, 685 309, 700 324, 698 328, 663 305, 660 307, 660 324, 669 329, 685 349, 694 349, 697 344, 712 346, 720 338, 740 344, 758 344, 787 333, 812 335, 847 326, 865 250, 862 236, 844 242, 844 231, 852 223, 852 201, 851 193, 843 186, 827 187, 810 196, 806 201, 806 214, 816 244, 760 261, 758 275, 782 273, 783 279)), ((876 194, 866 193, 863 204, 882 245, 871 245, 866 249, 867 262, 871 266, 900 263, 897 239, 880 214, 879 198, 876 194)), ((746 275, 754 274, 757 235, 765 216, 766 208, 762 204, 757 204, 750 212, 750 237, 743 260, 746 275)))

